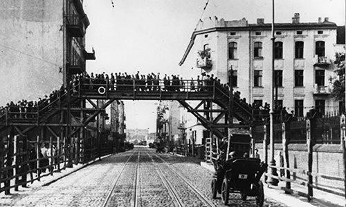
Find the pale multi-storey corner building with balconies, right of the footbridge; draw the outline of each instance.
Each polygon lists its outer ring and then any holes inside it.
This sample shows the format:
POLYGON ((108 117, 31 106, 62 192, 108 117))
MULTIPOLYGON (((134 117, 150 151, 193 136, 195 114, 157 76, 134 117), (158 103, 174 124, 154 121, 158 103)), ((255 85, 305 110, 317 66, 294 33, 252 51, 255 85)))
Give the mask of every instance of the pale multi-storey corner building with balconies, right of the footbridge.
POLYGON ((275 23, 274 54, 271 23, 257 19, 225 21, 207 18, 199 23, 180 65, 195 42, 197 67, 214 74, 221 82, 231 80, 234 90, 248 103, 264 105, 271 100, 272 54, 275 61, 277 104, 297 117, 311 108, 322 114, 338 110, 331 97, 330 77, 334 77, 334 46, 337 26, 325 19, 301 23, 295 14, 291 23, 275 23), (232 74, 232 75, 231 75, 232 74))

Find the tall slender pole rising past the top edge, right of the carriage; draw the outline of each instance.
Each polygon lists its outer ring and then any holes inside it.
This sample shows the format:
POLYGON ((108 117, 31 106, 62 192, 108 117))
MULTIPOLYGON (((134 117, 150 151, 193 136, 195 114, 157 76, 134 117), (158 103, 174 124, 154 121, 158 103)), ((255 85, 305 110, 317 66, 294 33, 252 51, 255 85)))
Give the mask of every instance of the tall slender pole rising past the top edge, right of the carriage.
MULTIPOLYGON (((270 141, 271 141, 271 161, 269 162, 270 166, 275 166, 275 159, 274 159, 274 88, 275 88, 275 34, 274 34, 274 19, 275 19, 275 0, 272 0, 272 15, 273 15, 273 21, 271 23, 271 41, 272 41, 272 59, 271 59, 271 112, 270 112, 270 141)), ((276 168, 269 168, 269 175, 277 176, 276 168)), ((271 184, 273 186, 277 186, 277 179, 274 179, 273 177, 268 177, 268 184, 271 184)))

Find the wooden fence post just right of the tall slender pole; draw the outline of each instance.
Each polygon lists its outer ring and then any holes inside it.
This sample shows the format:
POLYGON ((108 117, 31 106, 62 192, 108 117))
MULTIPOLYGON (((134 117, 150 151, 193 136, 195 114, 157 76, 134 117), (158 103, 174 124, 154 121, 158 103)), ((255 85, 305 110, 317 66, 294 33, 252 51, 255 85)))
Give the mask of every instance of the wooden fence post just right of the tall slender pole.
MULTIPOLYGON (((284 151, 284 167, 289 168, 289 122, 282 123, 282 150, 284 151)), ((287 179, 291 178, 291 172, 287 169, 285 170, 285 177, 287 179)), ((286 188, 291 189, 291 182, 286 181, 286 188)), ((284 193, 289 193, 285 190, 284 193)))

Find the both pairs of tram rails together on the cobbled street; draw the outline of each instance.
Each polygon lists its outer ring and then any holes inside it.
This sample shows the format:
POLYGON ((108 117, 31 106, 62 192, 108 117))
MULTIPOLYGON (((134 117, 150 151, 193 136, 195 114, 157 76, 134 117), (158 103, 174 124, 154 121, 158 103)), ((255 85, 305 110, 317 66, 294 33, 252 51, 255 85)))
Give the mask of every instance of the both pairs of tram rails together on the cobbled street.
MULTIPOLYGON (((156 184, 160 186, 160 191, 165 192, 166 199, 170 199, 170 201, 167 200, 167 202, 170 202, 170 206, 190 206, 188 202, 192 202, 192 200, 194 205, 191 204, 191 206, 215 206, 215 204, 208 199, 208 196, 203 195, 201 190, 196 188, 191 181, 186 179, 180 172, 170 166, 167 161, 156 155, 154 152, 140 148, 139 150, 135 150, 129 156, 125 164, 123 164, 122 169, 111 185, 111 190, 109 190, 102 207, 114 206, 112 200, 114 201, 115 199, 116 201, 120 201, 121 199, 125 199, 125 197, 131 197, 131 201, 123 204, 118 204, 118 202, 116 202, 116 206, 150 206, 149 204, 145 204, 145 198, 142 198, 140 195, 141 188, 144 188, 145 190, 145 185, 147 185, 145 181, 141 181, 140 179, 140 173, 144 173, 140 172, 140 170, 143 170, 140 168, 140 164, 147 164, 143 165, 143 167, 148 168, 151 172, 156 172, 156 175, 152 176, 156 177, 156 184), (136 166, 131 166, 131 168, 129 168, 131 172, 127 172, 125 169, 129 166, 131 159, 134 161, 134 156, 136 156, 136 166), (147 160, 147 162, 141 162, 140 158, 147 160), (123 185, 125 188, 121 188, 119 181, 126 176, 133 177, 133 181, 131 181, 131 185, 123 185), (172 177, 174 177, 175 181, 174 179, 172 180, 172 177), (116 197, 116 190, 122 191, 118 197, 116 197)), ((160 197, 160 199, 165 202, 163 197, 160 197)))

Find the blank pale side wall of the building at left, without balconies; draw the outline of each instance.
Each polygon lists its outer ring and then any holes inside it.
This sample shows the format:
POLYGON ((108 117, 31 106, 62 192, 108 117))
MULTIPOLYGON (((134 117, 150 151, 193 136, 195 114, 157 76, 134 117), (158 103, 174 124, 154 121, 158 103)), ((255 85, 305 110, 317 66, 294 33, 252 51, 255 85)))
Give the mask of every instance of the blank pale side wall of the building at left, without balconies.
POLYGON ((62 0, 0 1, 0 106, 62 85, 62 0))

